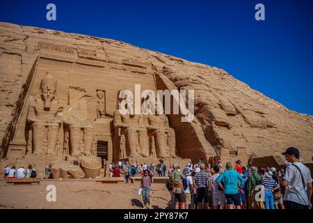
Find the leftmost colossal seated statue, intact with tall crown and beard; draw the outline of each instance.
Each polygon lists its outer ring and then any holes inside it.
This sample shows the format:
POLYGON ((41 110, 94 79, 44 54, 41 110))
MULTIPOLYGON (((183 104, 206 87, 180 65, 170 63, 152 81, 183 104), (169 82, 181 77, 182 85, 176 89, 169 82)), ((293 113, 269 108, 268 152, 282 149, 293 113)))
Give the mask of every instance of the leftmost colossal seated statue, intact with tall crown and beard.
POLYGON ((41 98, 34 98, 29 105, 26 121, 31 126, 33 137, 33 154, 56 154, 56 141, 61 125, 58 112, 62 107, 54 100, 56 93, 56 79, 47 72, 47 77, 40 83, 41 98), (46 130, 47 129, 47 130, 46 130), (44 151, 46 145, 47 150, 44 151))

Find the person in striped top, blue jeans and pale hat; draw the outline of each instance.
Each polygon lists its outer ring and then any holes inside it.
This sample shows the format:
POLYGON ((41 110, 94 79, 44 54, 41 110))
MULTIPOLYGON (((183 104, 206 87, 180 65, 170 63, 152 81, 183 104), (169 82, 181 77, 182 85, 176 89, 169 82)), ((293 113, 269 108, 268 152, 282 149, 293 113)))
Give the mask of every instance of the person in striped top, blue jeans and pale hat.
POLYGON ((264 178, 261 180, 261 184, 264 186, 264 202, 266 209, 275 209, 273 190, 277 190, 279 188, 278 183, 272 177, 273 172, 267 171, 264 174, 264 178))

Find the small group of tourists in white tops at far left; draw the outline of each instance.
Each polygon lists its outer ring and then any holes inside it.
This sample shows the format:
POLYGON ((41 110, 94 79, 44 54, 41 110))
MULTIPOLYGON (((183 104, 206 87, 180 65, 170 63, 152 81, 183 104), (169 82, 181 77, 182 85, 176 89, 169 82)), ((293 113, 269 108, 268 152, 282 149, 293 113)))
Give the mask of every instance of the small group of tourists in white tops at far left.
POLYGON ((29 165, 27 169, 24 167, 19 167, 16 169, 15 166, 9 167, 6 166, 4 168, 4 179, 10 178, 35 178, 37 176, 36 170, 29 165))

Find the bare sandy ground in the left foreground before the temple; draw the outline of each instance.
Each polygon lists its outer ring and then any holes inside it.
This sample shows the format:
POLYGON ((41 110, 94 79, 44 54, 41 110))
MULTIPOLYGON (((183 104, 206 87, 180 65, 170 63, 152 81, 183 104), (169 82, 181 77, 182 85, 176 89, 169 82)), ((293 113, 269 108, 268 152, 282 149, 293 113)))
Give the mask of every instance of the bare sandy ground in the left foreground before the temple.
MULTIPOLYGON (((7 185, 0 180, 0 208, 143 208, 134 184, 104 184, 94 180, 42 180, 40 185, 7 185), (56 201, 48 202, 47 185, 56 186, 56 201)), ((170 194, 163 183, 153 183, 152 208, 168 208, 170 194)))

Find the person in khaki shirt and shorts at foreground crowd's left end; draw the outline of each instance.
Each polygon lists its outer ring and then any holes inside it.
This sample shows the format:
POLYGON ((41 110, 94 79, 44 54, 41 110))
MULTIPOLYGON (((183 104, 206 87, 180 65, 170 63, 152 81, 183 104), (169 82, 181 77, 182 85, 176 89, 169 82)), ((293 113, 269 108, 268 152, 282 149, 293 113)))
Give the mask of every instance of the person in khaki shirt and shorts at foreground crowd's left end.
POLYGON ((172 193, 175 198, 175 209, 185 208, 186 195, 184 193, 184 187, 182 180, 186 179, 186 176, 181 171, 178 171, 178 165, 173 165, 173 171, 170 174, 170 183, 172 183, 172 193))

